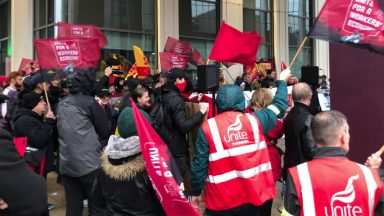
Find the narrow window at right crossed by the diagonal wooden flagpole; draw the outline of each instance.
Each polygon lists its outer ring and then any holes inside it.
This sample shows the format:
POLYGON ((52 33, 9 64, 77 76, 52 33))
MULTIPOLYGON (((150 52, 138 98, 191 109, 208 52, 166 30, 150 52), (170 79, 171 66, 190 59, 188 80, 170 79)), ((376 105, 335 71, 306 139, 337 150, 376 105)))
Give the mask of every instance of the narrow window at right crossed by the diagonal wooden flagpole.
MULTIPOLYGON (((310 0, 288 1, 289 60, 292 61, 312 24, 310 0)), ((313 42, 308 39, 292 66, 292 74, 301 77, 301 67, 313 64, 313 42)))

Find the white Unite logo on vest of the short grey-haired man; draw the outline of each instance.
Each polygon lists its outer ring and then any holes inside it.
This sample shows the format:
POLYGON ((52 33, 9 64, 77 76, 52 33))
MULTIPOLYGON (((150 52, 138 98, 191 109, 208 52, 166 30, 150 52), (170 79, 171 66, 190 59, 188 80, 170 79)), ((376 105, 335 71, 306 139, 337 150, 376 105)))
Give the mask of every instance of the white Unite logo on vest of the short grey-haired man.
POLYGON ((359 175, 351 176, 348 179, 345 190, 337 192, 332 196, 330 209, 328 210, 327 206, 324 206, 325 216, 363 215, 363 210, 359 206, 350 205, 356 198, 353 181, 357 179, 359 179, 359 175), (338 202, 339 205, 335 205, 335 202, 338 202))

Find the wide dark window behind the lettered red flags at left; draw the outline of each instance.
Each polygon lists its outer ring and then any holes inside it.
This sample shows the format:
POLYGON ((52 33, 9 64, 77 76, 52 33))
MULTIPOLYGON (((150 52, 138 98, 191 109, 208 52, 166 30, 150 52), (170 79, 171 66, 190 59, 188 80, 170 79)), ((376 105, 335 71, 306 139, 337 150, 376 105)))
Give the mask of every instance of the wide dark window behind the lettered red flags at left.
POLYGON ((99 27, 108 39, 102 58, 121 54, 134 63, 132 45, 139 46, 151 67, 156 65, 155 0, 35 0, 35 38, 51 38, 62 21, 99 27), (52 3, 52 4, 50 4, 52 3), (45 11, 45 12, 44 12, 45 11), (51 25, 52 19, 52 25, 51 25), (41 31, 45 29, 46 31, 41 31))

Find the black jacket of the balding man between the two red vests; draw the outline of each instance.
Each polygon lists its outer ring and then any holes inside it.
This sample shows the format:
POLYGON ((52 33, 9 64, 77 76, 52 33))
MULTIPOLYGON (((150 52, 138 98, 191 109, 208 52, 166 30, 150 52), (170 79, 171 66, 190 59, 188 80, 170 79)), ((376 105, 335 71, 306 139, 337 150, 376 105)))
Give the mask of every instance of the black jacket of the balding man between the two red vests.
POLYGON ((288 168, 312 160, 315 141, 310 124, 313 115, 310 108, 295 102, 295 106, 284 119, 285 154, 283 177, 286 179, 288 168))

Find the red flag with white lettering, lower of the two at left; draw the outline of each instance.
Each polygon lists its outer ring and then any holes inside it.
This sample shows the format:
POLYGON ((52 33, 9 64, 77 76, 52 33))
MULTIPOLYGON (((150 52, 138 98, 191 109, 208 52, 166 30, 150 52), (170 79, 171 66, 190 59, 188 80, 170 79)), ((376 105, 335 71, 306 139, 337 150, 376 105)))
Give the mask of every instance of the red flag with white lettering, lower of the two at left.
POLYGON ((43 69, 64 69, 70 64, 76 69, 87 69, 97 66, 100 59, 95 39, 37 39, 35 50, 43 69))

